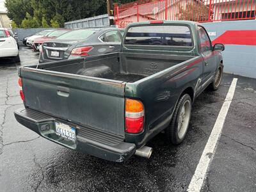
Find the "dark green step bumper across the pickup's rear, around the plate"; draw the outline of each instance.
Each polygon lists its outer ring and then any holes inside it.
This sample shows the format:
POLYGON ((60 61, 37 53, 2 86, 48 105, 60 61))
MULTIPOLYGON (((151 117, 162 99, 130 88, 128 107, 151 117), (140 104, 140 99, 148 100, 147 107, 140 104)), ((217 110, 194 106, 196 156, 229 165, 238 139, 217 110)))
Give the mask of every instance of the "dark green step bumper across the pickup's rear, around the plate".
MULTIPOLYGON (((33 109, 17 109, 14 112, 16 120, 44 138, 85 154, 90 154, 108 161, 122 162, 131 157, 136 146, 134 143, 125 143, 124 138, 116 134, 104 132, 92 127, 76 127, 76 143, 61 138, 55 134, 55 121, 62 121, 45 115, 33 109), (48 128, 47 128, 48 127, 48 128)), ((62 121, 63 122, 63 121, 62 121)), ((63 122, 70 124, 68 122, 63 122)))

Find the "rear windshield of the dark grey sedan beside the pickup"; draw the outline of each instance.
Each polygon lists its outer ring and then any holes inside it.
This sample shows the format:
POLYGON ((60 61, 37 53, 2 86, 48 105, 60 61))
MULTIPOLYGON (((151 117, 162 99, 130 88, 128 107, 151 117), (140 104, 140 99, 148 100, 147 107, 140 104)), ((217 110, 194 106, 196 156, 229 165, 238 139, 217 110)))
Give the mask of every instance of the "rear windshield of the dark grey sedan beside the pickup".
POLYGON ((95 33, 95 30, 92 29, 79 29, 76 31, 70 31, 59 36, 57 39, 64 39, 64 40, 84 40, 88 38, 90 35, 95 33))

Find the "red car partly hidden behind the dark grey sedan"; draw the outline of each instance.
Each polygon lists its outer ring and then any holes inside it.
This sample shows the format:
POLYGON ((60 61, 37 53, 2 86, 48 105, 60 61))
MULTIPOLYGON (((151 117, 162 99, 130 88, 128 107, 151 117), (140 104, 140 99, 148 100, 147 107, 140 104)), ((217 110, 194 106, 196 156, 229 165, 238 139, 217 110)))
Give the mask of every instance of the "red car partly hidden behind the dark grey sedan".
POLYGON ((52 31, 51 33, 48 33, 45 36, 35 38, 31 47, 33 47, 34 51, 39 51, 39 46, 42 45, 44 42, 53 40, 53 39, 57 38, 58 36, 61 36, 65 33, 67 33, 68 31, 71 31, 71 29, 57 29, 56 31, 52 31))

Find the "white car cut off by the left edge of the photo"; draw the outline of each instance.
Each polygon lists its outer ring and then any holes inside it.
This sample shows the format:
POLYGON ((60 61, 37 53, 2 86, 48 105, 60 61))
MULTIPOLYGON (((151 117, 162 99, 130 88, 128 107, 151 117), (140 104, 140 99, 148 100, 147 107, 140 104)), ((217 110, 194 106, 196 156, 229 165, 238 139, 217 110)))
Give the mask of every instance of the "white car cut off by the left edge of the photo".
POLYGON ((0 28, 0 58, 12 57, 20 62, 19 50, 15 38, 6 28, 0 28))

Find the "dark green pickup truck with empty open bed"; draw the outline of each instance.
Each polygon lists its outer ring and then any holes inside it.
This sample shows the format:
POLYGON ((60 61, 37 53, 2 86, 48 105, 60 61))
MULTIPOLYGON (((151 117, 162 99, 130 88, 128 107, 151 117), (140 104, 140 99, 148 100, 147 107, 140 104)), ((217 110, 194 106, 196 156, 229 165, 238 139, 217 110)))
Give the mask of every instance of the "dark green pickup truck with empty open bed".
POLYGON ((159 132, 174 145, 184 140, 193 101, 220 86, 224 49, 196 22, 130 24, 120 52, 20 67, 24 108, 15 118, 102 159, 150 157, 147 141, 159 132))

